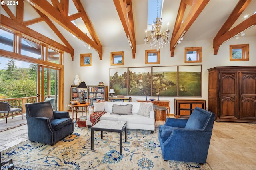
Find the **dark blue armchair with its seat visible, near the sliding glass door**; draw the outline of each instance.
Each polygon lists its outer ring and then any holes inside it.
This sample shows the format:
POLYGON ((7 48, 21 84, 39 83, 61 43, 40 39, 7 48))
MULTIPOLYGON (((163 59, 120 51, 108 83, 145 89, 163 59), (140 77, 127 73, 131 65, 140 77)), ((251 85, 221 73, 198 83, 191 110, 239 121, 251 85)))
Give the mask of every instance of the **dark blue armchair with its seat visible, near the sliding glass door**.
POLYGON ((28 139, 54 145, 74 131, 74 122, 66 111, 53 111, 50 101, 26 104, 28 139))

